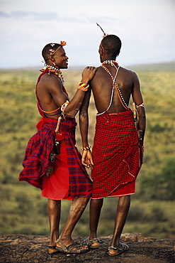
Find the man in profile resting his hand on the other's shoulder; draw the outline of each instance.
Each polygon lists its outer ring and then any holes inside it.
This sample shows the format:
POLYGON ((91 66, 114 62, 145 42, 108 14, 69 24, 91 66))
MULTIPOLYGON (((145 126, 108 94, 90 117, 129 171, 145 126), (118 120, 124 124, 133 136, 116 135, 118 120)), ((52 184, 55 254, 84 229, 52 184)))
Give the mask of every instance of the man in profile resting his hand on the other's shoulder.
POLYGON ((35 93, 38 110, 42 116, 26 148, 23 171, 19 181, 28 181, 41 189, 48 198, 47 209, 50 221, 50 254, 56 252, 81 253, 88 251, 86 245, 72 240, 72 231, 91 197, 91 180, 81 164, 81 155, 75 146, 74 116, 79 111, 88 82, 96 68, 86 67, 77 91, 69 102, 60 68, 68 67, 68 57, 63 45, 50 43, 43 48, 46 66, 38 77, 35 93), (59 119, 59 120, 58 120, 59 119), (72 200, 69 217, 59 237, 61 200, 72 200))

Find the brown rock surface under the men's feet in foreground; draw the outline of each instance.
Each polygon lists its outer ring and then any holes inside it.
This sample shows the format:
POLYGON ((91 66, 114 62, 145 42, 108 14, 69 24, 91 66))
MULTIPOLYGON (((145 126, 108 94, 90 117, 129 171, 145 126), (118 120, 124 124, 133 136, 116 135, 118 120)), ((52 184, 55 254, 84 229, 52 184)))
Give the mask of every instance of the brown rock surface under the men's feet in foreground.
MULTIPOLYGON (((83 237, 75 237, 81 242, 83 237)), ((175 262, 175 240, 157 240, 154 237, 142 237, 141 234, 123 234, 121 241, 129 245, 129 250, 117 257, 108 255, 111 236, 100 237, 99 249, 91 249, 83 254, 54 255, 47 253, 49 237, 35 235, 4 235, 0 236, 1 263, 161 263, 175 262)))

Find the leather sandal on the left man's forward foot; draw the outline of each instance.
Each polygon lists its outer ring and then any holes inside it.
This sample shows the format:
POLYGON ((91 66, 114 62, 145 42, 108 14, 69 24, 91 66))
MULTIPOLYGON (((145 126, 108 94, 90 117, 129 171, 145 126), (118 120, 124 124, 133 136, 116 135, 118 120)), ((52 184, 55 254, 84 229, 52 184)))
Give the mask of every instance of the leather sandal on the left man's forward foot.
POLYGON ((61 247, 56 246, 56 249, 60 252, 64 252, 67 254, 80 254, 89 251, 89 248, 87 246, 80 245, 77 242, 74 242, 73 244, 67 247, 59 239, 56 242, 61 246, 61 247), (82 247, 86 247, 86 248, 82 248, 82 247))

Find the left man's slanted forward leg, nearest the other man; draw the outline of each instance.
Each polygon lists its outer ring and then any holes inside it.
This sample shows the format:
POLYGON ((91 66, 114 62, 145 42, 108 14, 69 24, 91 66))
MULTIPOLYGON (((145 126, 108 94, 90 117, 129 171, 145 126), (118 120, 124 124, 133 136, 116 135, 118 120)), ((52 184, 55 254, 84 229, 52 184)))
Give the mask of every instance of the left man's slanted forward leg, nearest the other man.
MULTIPOLYGON (((59 240, 66 247, 74 243, 74 241, 72 240, 72 236, 71 236, 72 231, 74 230, 75 225, 79 221, 79 218, 81 218, 81 215, 84 212, 84 209, 86 208, 88 201, 89 201, 88 197, 74 198, 74 200, 72 201, 72 205, 69 210, 69 216, 67 218, 67 222, 64 225, 64 228, 59 238, 59 240)), ((58 244, 57 246, 60 247, 58 244)))

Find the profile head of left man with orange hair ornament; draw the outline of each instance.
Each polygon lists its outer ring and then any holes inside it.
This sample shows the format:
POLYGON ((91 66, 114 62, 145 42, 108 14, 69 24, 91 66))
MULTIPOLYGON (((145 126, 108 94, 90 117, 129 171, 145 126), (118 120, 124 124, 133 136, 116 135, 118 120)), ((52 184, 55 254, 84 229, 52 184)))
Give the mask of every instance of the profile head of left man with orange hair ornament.
POLYGON ((67 68, 67 55, 65 53, 63 45, 66 45, 64 41, 58 43, 49 43, 45 45, 42 50, 42 55, 48 65, 54 65, 58 68, 67 68))

